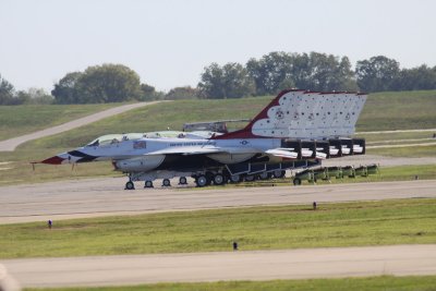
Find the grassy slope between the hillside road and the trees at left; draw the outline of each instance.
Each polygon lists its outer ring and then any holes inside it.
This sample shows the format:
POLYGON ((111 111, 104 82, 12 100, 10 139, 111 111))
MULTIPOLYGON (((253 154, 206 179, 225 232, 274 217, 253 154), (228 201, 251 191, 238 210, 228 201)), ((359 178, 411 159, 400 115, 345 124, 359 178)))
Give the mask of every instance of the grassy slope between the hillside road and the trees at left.
POLYGON ((59 125, 120 105, 0 106, 0 141, 59 125))

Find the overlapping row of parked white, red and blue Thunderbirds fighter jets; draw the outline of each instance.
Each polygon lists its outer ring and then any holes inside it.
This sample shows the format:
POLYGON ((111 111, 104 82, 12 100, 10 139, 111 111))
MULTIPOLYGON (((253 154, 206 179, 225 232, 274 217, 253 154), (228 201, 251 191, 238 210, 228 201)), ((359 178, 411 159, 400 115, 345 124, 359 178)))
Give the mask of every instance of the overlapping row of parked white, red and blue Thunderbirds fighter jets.
POLYGON ((365 154, 365 141, 350 138, 363 109, 361 93, 281 92, 242 130, 228 133, 156 132, 105 135, 88 145, 40 162, 50 165, 110 160, 134 181, 173 177, 197 186, 283 175, 286 169, 319 165, 320 160, 365 154))

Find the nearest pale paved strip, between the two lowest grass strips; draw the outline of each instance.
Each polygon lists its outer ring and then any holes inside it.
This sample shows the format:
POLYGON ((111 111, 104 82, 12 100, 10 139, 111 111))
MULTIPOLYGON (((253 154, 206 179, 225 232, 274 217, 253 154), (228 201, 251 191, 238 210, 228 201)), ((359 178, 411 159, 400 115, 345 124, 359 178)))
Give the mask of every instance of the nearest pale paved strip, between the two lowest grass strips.
POLYGON ((436 244, 3 260, 23 287, 436 274, 436 244))

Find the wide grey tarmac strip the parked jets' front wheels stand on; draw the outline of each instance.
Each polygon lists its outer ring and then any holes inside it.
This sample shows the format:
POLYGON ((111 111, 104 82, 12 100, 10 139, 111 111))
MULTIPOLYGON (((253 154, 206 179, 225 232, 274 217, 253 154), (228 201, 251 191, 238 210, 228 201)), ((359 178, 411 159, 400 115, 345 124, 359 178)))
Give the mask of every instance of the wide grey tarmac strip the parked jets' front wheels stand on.
POLYGON ((436 197, 436 180, 354 184, 121 190, 125 179, 88 179, 0 187, 0 223, 316 201, 436 197))

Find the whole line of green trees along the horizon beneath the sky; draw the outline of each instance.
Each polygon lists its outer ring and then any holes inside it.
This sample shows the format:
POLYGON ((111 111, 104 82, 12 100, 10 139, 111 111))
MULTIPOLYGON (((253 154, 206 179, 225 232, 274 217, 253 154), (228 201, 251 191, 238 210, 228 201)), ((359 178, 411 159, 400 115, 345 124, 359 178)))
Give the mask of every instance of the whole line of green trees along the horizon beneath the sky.
POLYGON ((211 63, 204 68, 195 88, 175 87, 162 93, 141 83, 138 74, 130 68, 109 63, 65 74, 50 94, 40 88, 16 92, 0 75, 0 105, 241 98, 275 95, 283 88, 367 93, 436 89, 436 66, 401 69, 395 59, 376 56, 358 61, 353 70, 348 57, 275 51, 252 58, 245 64, 211 63))

